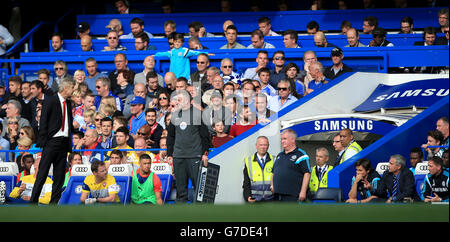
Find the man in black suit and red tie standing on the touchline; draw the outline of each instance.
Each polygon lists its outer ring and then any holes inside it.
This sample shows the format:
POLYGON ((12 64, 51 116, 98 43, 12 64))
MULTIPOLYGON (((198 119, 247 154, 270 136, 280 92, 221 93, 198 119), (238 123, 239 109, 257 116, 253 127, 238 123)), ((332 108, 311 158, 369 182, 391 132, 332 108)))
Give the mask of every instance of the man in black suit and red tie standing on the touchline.
POLYGON ((37 204, 42 186, 53 164, 53 186, 50 203, 57 204, 62 193, 66 172, 67 153, 72 151, 71 134, 72 106, 68 99, 72 95, 75 81, 66 78, 59 84, 58 93, 46 96, 42 105, 39 136, 36 146, 42 148, 42 158, 31 194, 31 203, 37 204))

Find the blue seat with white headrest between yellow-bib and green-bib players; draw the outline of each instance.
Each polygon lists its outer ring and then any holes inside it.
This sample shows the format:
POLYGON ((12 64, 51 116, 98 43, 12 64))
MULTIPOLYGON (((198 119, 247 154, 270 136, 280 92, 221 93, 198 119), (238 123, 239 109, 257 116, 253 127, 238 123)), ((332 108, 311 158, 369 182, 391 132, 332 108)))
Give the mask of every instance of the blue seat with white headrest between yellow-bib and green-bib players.
POLYGON ((108 174, 116 179, 116 183, 120 187, 119 193, 117 194, 120 202, 124 205, 129 204, 131 199, 133 166, 131 164, 110 165, 108 174))

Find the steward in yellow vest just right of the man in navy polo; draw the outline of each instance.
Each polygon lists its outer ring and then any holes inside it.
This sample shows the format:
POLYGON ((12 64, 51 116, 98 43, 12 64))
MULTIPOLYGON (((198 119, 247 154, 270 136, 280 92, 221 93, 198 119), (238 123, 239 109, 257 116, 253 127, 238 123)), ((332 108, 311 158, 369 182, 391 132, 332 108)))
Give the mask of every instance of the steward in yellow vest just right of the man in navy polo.
POLYGON ((328 150, 324 147, 316 149, 316 165, 312 169, 309 181, 309 191, 312 195, 319 188, 328 187, 328 172, 333 166, 327 164, 329 158, 328 150))

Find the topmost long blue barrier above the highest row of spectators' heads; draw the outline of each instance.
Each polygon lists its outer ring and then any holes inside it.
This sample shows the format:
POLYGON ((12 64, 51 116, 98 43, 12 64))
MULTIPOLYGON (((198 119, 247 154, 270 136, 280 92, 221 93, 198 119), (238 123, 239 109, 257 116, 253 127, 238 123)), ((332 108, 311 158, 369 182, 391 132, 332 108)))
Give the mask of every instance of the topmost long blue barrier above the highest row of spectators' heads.
POLYGON ((144 20, 145 30, 152 34, 164 34, 164 22, 174 20, 177 32, 189 33, 188 24, 200 21, 207 32, 223 33, 223 23, 231 19, 239 33, 250 33, 258 29, 258 19, 266 16, 271 19, 272 29, 282 32, 288 29, 306 32, 306 25, 315 20, 320 29, 340 32, 341 22, 348 20, 357 29, 362 29, 363 20, 367 16, 376 16, 379 26, 385 29, 400 29, 400 21, 404 16, 414 19, 414 28, 423 29, 427 26, 437 26, 439 8, 392 8, 392 9, 354 9, 354 10, 317 10, 317 11, 273 11, 273 12, 232 12, 232 13, 174 13, 174 14, 99 14, 78 15, 77 23, 88 22, 91 33, 106 35, 105 28, 109 21, 117 18, 122 22, 124 33, 130 30, 131 19, 138 17, 144 20))

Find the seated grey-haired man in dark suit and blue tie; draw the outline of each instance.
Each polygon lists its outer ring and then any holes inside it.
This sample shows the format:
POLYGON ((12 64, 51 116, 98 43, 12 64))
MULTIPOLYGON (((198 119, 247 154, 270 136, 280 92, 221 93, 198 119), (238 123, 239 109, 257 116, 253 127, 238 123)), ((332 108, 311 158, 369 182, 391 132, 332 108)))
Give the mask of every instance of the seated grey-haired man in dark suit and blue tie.
POLYGON ((403 202, 405 198, 418 201, 414 175, 406 167, 405 158, 398 154, 392 155, 388 166, 389 169, 383 173, 373 198, 387 203, 403 202))

